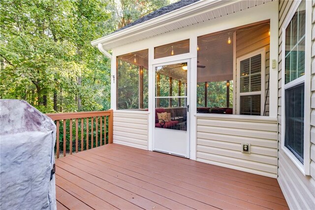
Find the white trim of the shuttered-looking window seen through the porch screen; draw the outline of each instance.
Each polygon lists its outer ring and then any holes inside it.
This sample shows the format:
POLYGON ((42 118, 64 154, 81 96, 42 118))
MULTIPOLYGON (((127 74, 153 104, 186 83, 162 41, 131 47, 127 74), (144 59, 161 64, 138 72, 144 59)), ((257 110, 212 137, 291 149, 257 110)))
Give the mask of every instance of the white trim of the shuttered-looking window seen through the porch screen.
POLYGON ((259 50, 253 51, 247 55, 244 55, 242 57, 239 57, 236 59, 237 67, 236 67, 236 114, 240 114, 240 107, 241 107, 241 96, 250 96, 250 95, 259 95, 260 94, 260 115, 262 116, 264 114, 264 105, 265 105, 265 56, 266 56, 266 50, 265 48, 261 48, 259 50), (241 93, 240 91, 240 67, 241 67, 241 61, 251 58, 253 56, 261 54, 261 84, 260 84, 260 91, 255 92, 245 92, 241 93))

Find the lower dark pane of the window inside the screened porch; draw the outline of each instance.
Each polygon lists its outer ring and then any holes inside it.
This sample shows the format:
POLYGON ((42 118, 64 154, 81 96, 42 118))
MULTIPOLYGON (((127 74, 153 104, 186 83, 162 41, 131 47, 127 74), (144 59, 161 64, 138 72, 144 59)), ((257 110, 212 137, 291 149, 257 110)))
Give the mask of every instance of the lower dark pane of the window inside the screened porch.
POLYGON ((241 96, 240 114, 260 115, 260 95, 241 96))

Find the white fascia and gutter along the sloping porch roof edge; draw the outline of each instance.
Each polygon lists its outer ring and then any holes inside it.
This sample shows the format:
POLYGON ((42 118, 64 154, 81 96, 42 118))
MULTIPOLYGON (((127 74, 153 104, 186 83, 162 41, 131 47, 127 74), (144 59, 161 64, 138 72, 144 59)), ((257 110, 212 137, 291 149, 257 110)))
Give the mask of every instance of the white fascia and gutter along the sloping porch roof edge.
MULTIPOLYGON (((131 35, 136 35, 138 33, 144 33, 146 30, 152 30, 154 28, 161 27, 165 24, 170 24, 175 21, 179 21, 180 19, 187 19, 190 16, 195 16, 197 14, 203 13, 205 11, 211 11, 223 6, 227 6, 229 4, 236 3, 241 0, 201 0, 197 1, 193 4, 189 4, 183 8, 177 9, 175 11, 166 13, 164 15, 158 16, 146 22, 137 24, 135 26, 126 28, 122 31, 116 32, 114 34, 110 34, 107 36, 103 36, 94 41, 91 41, 93 46, 102 43, 105 49, 106 44, 117 41, 119 39, 124 39, 131 35)), ((107 49, 108 50, 108 49, 107 49)))

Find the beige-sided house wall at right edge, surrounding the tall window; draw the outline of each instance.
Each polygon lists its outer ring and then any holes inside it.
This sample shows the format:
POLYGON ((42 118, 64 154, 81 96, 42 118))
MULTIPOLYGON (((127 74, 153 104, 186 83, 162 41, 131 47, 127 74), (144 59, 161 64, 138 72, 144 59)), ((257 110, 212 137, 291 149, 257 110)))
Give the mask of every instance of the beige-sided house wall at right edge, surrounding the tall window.
MULTIPOLYGON (((288 14, 293 1, 281 0, 279 4, 279 177, 278 181, 290 209, 315 209, 315 1, 313 0, 313 25, 312 25, 312 99, 311 99, 311 163, 310 175, 303 175, 292 160, 281 148, 281 114, 282 114, 282 28, 284 19, 288 14)), ((308 7, 308 5, 307 5, 308 7)), ((306 54, 306 56, 309 56, 306 54)), ((311 79, 311 78, 306 78, 311 79)), ((307 106, 308 104, 306 104, 307 106)), ((305 116, 307 117, 307 116, 305 116)))

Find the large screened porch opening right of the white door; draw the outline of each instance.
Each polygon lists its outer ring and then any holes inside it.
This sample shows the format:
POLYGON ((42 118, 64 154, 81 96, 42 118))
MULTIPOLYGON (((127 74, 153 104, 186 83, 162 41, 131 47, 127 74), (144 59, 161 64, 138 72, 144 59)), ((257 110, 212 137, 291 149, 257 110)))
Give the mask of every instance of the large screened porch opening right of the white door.
POLYGON ((197 38, 197 113, 269 115, 269 29, 262 21, 197 38))

